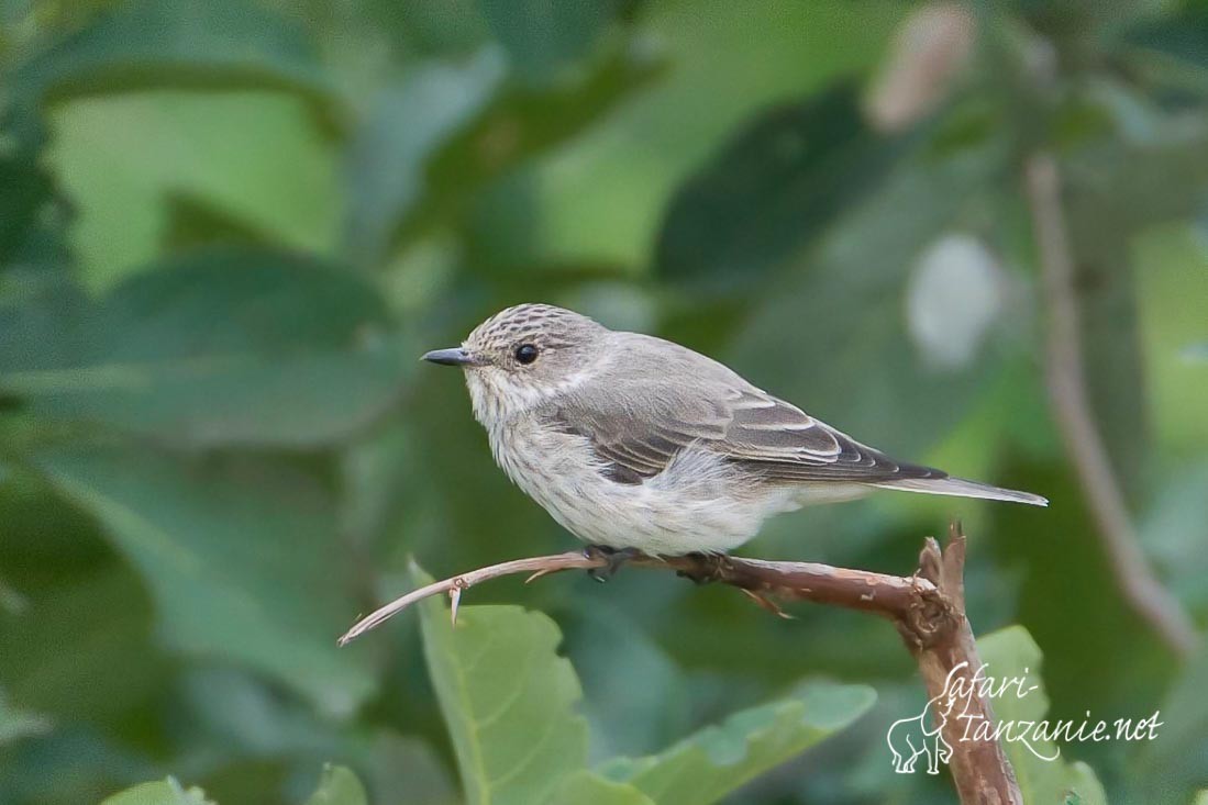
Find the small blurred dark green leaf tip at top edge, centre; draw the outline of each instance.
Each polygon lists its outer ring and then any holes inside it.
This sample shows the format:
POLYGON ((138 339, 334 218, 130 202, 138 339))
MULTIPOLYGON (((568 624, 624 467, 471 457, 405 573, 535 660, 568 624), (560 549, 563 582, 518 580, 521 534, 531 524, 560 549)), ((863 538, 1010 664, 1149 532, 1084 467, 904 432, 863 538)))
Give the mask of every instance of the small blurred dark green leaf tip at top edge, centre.
POLYGON ((612 18, 616 0, 480 0, 512 66, 530 83, 553 83, 583 58, 612 18))

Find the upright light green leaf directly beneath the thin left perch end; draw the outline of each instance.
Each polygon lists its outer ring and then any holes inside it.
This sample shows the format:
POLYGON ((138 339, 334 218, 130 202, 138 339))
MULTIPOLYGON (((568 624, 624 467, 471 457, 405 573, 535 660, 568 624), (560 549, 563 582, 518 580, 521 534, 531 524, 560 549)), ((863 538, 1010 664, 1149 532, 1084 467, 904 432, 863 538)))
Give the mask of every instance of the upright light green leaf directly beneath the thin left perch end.
MULTIPOLYGON (((423 573, 416 572, 423 583, 423 573)), ((463 607, 457 626, 436 597, 422 606, 424 657, 453 739, 469 805, 533 805, 587 763, 582 695, 562 635, 521 607, 463 607)))

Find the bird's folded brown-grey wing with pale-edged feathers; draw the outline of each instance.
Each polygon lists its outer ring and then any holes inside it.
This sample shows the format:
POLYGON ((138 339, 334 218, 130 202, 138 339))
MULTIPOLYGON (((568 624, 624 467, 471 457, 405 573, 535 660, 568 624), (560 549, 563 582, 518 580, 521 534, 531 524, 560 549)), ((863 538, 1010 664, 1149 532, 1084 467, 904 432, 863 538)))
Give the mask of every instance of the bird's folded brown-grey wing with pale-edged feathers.
MULTIPOLYGON (((728 372, 728 371, 727 371, 728 372)), ((574 395, 545 416, 585 436, 608 474, 640 483, 687 448, 719 453, 762 478, 786 482, 879 483, 943 478, 929 467, 889 459, 737 375, 692 389, 646 383, 574 395), (727 379, 728 380, 728 379, 727 379)))

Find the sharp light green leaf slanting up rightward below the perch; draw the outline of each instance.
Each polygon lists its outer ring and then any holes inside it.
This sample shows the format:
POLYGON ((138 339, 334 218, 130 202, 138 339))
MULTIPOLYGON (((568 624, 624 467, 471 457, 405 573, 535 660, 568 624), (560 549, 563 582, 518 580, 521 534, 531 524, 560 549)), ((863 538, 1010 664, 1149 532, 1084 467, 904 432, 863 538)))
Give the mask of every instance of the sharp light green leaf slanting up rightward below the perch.
POLYGON ((657 756, 610 760, 603 772, 658 805, 715 803, 842 730, 875 700, 866 686, 809 683, 789 699, 734 713, 657 756))

